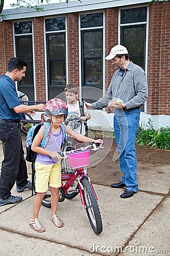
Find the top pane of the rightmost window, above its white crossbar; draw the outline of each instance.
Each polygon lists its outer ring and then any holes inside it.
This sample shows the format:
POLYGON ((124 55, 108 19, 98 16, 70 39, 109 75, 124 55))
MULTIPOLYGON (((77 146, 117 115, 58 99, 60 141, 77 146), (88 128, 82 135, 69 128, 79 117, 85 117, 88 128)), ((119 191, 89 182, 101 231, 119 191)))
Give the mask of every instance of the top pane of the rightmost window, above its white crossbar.
POLYGON ((133 22, 145 22, 147 7, 121 10, 121 24, 133 22))

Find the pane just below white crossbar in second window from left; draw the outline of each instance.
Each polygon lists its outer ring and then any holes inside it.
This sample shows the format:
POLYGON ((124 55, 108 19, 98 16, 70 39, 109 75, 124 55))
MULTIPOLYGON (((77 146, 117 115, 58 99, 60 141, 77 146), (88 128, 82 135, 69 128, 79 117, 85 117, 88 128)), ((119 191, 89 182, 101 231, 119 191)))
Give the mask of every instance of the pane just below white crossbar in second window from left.
POLYGON ((65 34, 48 35, 49 59, 65 59, 65 34))

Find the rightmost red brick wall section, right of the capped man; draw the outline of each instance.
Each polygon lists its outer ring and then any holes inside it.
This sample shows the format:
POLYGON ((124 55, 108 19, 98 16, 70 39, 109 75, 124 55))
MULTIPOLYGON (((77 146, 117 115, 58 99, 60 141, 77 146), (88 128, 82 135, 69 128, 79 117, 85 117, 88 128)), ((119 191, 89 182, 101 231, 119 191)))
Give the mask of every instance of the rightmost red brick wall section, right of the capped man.
POLYGON ((150 5, 147 113, 170 114, 170 2, 150 5))

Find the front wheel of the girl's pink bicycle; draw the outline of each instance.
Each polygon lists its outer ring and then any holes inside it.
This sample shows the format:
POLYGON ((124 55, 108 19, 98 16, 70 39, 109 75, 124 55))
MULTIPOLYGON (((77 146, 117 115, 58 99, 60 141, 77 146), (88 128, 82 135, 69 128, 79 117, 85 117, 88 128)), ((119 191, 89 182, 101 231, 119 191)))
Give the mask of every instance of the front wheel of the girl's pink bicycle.
POLYGON ((94 191, 91 187, 90 182, 86 177, 81 180, 83 185, 83 196, 86 202, 86 212, 92 229, 96 234, 100 234, 103 231, 103 224, 101 220, 99 205, 94 194, 94 191))

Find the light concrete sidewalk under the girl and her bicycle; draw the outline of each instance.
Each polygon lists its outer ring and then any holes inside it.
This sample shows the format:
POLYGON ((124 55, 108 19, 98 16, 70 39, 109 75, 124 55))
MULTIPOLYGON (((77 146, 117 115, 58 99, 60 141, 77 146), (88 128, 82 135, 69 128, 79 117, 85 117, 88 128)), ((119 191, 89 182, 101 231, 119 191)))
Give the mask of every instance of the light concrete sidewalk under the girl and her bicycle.
MULTIPOLYGON (((2 143, 0 152, 2 162, 2 143)), ((39 218, 46 232, 36 233, 28 225, 35 196, 29 190, 18 193, 14 186, 12 195, 23 196, 23 201, 0 207, 0 255, 169 256, 170 164, 159 166, 162 180, 157 171, 150 174, 149 165, 145 169, 145 176, 138 178, 139 192, 129 199, 121 199, 123 189, 94 184, 103 220, 100 235, 93 232, 79 195, 59 203, 65 224, 61 229, 50 221, 50 208, 41 207, 39 218)), ((30 163, 28 175, 31 179, 30 163)))

